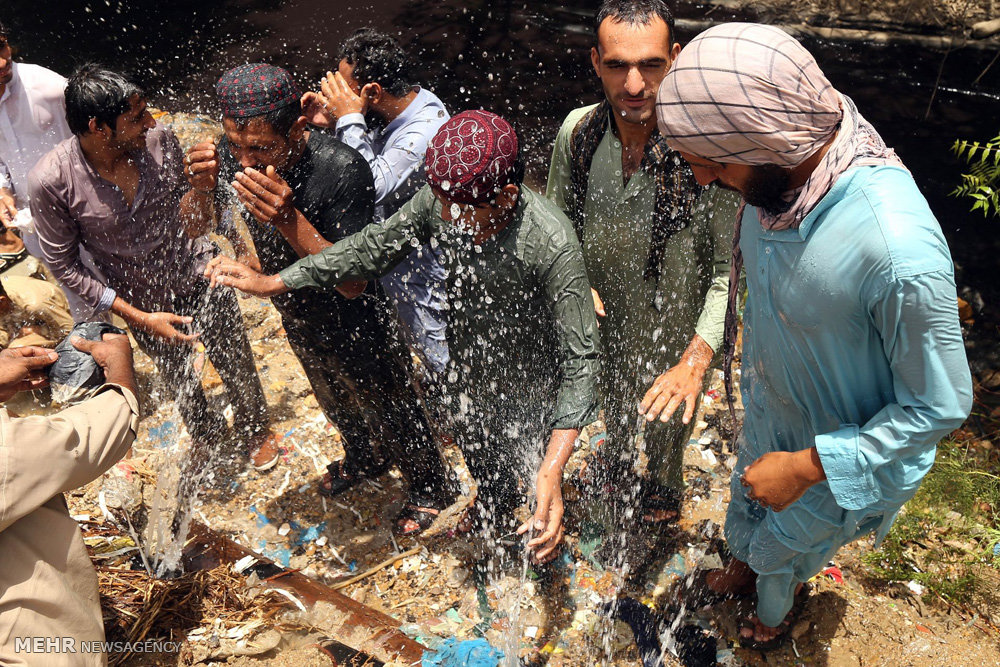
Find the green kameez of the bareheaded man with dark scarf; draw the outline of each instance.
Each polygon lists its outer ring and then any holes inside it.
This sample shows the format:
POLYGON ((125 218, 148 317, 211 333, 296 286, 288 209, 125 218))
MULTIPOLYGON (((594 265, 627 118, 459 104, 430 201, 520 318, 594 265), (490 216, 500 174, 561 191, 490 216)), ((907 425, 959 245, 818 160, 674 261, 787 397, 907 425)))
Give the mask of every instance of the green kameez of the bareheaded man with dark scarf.
MULTIPOLYGON (((580 118, 567 116, 556 136, 548 197, 563 210, 573 206, 569 144, 580 118)), ((600 390, 605 402, 608 446, 631 466, 637 433, 636 406, 653 380, 677 363, 694 334, 713 349, 722 341, 729 243, 737 200, 711 188, 694 206, 687 226, 664 246, 658 283, 643 279, 653 228, 655 179, 639 170, 622 182, 622 148, 610 125, 591 160, 583 206, 583 258, 591 286, 601 295, 600 390)), ((682 459, 691 426, 681 412, 666 424, 647 425, 650 475, 672 488, 683 486, 682 459)))

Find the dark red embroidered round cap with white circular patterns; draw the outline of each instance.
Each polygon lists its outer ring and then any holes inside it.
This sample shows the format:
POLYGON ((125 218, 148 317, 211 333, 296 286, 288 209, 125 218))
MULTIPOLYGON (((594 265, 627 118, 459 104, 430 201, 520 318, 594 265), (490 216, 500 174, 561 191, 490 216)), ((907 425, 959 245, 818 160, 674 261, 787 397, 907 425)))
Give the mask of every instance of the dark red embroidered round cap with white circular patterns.
POLYGON ((507 185, 517 163, 514 128, 489 111, 463 111, 427 147, 427 182, 458 204, 481 204, 507 185))

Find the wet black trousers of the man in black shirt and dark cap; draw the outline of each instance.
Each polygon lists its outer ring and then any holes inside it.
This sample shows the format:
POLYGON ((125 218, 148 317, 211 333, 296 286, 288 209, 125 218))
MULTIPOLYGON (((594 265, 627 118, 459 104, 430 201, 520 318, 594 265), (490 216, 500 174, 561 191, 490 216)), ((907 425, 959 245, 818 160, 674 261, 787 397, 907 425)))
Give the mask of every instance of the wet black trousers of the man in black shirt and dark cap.
POLYGON ((344 437, 346 472, 395 464, 411 497, 450 502, 452 477, 391 332, 374 322, 344 331, 283 320, 320 408, 344 437))

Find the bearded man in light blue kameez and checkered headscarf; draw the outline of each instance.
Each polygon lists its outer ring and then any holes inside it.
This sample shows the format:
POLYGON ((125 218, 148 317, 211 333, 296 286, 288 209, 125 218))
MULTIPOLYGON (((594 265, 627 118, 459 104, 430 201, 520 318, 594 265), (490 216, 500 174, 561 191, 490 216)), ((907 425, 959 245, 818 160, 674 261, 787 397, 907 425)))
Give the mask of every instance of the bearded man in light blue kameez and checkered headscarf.
POLYGON ((756 590, 740 642, 767 648, 787 636, 803 582, 844 544, 886 535, 969 413, 951 255, 899 158, 777 28, 699 35, 657 116, 700 183, 744 199, 725 344, 728 380, 744 270, 734 559, 699 593, 756 590))

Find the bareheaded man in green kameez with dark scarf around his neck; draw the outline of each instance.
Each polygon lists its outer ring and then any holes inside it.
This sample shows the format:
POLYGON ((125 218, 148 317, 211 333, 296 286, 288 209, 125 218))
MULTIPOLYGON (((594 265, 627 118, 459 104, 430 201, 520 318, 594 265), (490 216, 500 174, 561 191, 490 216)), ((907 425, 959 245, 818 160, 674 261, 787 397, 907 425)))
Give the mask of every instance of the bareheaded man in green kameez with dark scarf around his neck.
MULTIPOLYGON (((600 388, 610 454, 596 481, 622 498, 622 482, 636 479, 633 445, 644 440, 640 516, 656 524, 679 516, 684 447, 722 341, 738 200, 698 186, 656 128, 656 91, 680 53, 666 4, 606 0, 596 37, 591 60, 606 99, 564 121, 547 194, 574 222, 603 316, 600 388), (666 409, 640 434, 636 409, 650 385, 666 409), (682 403, 683 414, 673 417, 682 403)), ((613 509, 632 503, 624 498, 613 509)))

